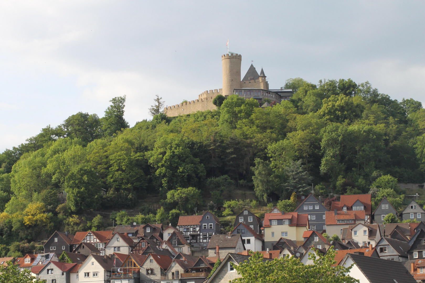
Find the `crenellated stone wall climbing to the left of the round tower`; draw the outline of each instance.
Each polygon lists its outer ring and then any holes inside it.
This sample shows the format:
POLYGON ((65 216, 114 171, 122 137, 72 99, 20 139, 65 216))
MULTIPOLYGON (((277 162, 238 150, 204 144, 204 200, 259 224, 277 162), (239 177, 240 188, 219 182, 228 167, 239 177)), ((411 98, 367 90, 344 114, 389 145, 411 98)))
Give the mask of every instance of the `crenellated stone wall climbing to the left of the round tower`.
POLYGON ((190 113, 195 113, 196 111, 217 109, 217 106, 212 104, 212 100, 218 94, 221 94, 221 89, 210 90, 210 91, 206 90, 202 92, 200 95, 198 95, 199 99, 165 107, 164 114, 167 115, 168 117, 175 117, 178 115, 187 115, 190 113))

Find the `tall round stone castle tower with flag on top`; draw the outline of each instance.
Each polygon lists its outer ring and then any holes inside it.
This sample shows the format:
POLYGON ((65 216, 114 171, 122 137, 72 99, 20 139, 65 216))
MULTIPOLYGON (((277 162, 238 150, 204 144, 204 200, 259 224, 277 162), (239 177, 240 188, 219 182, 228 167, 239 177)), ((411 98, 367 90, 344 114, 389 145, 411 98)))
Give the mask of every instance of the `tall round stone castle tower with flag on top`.
POLYGON ((221 56, 223 66, 223 95, 232 95, 235 88, 241 88, 240 54, 224 54, 221 56))

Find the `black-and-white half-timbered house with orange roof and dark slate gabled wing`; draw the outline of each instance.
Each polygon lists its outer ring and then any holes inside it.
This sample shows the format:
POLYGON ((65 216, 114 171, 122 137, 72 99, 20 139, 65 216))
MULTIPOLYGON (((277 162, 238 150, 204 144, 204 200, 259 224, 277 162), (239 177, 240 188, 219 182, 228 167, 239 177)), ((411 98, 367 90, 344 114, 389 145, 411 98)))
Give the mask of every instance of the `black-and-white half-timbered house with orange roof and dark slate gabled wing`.
POLYGON ((203 215, 180 216, 177 229, 192 246, 206 247, 212 235, 220 234, 221 224, 209 211, 203 215))

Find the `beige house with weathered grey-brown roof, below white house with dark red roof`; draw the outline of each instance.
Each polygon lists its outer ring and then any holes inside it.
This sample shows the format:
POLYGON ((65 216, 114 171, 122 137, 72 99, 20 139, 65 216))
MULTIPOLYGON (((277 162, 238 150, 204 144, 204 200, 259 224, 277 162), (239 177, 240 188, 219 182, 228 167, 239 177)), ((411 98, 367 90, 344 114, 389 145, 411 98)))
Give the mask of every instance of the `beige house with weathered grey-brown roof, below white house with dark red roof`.
POLYGON ((208 257, 225 258, 228 253, 238 253, 245 250, 241 234, 212 235, 208 244, 208 257))

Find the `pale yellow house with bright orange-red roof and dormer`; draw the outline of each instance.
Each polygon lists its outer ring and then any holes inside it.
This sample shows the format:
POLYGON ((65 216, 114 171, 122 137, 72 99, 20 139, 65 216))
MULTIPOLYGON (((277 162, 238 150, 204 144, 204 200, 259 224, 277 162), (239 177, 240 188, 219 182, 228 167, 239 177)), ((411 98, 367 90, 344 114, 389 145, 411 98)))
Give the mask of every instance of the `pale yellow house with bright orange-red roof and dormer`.
POLYGON ((297 245, 304 243, 303 233, 309 230, 309 218, 307 214, 297 212, 266 213, 261 228, 264 230, 264 248, 273 249, 273 246, 281 238, 295 241, 297 245))

